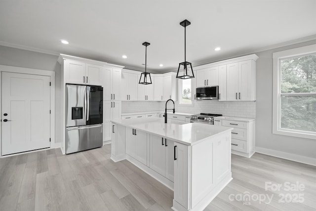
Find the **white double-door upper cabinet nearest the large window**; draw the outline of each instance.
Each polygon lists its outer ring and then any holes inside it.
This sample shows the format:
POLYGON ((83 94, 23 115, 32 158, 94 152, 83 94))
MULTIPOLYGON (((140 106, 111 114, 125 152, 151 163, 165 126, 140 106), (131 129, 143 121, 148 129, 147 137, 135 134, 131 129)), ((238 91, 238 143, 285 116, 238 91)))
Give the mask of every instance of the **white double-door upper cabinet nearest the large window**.
POLYGON ((256 100, 256 64, 246 60, 227 65, 227 100, 252 101, 256 100))

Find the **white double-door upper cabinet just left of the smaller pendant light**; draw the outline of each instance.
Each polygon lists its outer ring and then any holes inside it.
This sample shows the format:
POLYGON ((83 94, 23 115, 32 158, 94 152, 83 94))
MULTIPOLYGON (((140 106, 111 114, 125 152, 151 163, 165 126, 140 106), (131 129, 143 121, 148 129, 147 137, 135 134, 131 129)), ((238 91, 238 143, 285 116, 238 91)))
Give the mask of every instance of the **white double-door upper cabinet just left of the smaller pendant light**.
POLYGON ((122 71, 121 75, 121 100, 137 100, 137 76, 138 74, 127 73, 122 71))

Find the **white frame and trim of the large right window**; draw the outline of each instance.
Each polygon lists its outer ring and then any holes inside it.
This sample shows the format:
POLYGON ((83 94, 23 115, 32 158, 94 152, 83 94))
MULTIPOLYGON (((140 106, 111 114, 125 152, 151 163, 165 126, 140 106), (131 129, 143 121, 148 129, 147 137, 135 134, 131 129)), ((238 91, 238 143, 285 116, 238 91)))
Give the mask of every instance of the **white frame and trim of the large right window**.
MULTIPOLYGON (((307 45, 307 46, 298 47, 298 48, 292 48, 292 49, 278 51, 278 52, 273 53, 273 113, 272 113, 273 129, 272 129, 272 133, 316 140, 316 132, 281 128, 281 112, 280 112, 281 111, 280 60, 291 58, 291 57, 297 57, 301 55, 315 54, 315 53, 316 53, 316 44, 307 45)), ((296 94, 304 95, 300 93, 296 93, 296 94)), ((294 94, 283 93, 283 95, 294 95, 294 94)), ((316 94, 313 94, 313 95, 316 95, 316 94)))

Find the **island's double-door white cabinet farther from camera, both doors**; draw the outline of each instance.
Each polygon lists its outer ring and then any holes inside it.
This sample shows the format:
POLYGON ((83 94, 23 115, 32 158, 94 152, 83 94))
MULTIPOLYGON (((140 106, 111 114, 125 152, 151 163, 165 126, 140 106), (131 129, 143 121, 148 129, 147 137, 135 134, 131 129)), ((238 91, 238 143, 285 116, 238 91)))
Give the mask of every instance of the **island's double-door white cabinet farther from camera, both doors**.
POLYGON ((147 133, 126 127, 126 154, 147 165, 147 133))

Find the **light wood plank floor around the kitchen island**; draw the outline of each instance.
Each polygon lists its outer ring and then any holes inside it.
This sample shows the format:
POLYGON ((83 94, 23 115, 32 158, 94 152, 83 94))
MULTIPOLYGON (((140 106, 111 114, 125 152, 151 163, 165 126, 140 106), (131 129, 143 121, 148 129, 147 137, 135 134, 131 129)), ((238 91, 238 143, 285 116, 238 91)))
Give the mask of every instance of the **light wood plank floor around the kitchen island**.
MULTIPOLYGON (((114 163, 111 145, 62 155, 60 149, 0 159, 1 211, 170 211, 173 191, 128 161, 114 163)), ((232 155, 233 180, 205 211, 315 211, 316 167, 256 153, 232 155), (302 183, 304 191, 265 190, 265 182, 302 183), (304 194, 280 203, 279 194, 304 194), (253 200, 238 200, 250 195, 253 200), (271 203, 256 196, 268 195, 271 203), (236 199, 231 201, 230 199, 236 199)), ((288 198, 289 199, 289 198, 288 198)))

